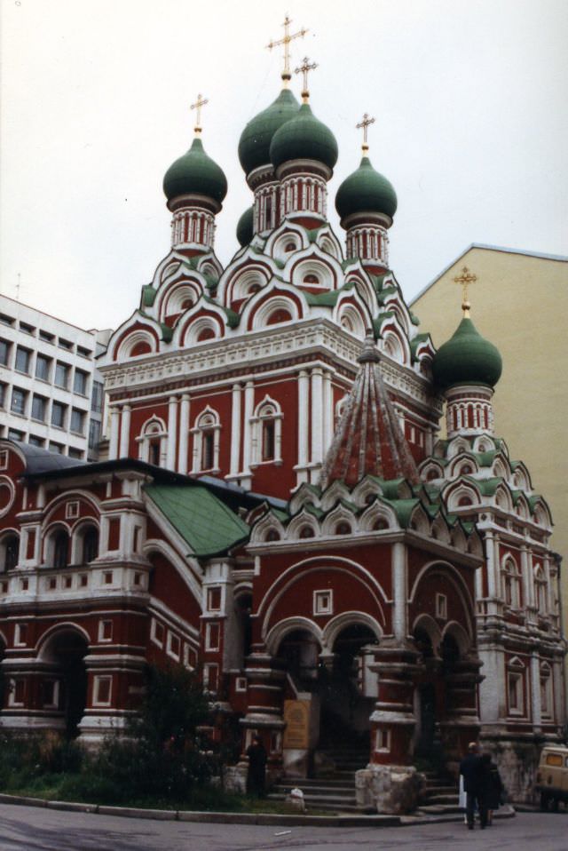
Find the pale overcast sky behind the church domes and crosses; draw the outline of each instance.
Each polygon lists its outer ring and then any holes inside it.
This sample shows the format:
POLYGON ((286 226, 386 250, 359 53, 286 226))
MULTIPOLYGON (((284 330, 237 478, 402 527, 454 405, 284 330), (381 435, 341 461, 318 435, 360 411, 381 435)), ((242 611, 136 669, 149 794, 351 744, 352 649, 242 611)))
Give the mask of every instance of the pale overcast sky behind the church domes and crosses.
MULTIPOLYGON (((334 198, 370 155, 398 194, 390 265, 412 298, 472 242, 568 254, 566 0, 0 0, 0 289, 85 327, 138 306, 170 248, 164 172, 203 143, 225 171, 217 256, 238 248, 251 194, 237 157, 280 91, 293 44, 312 109, 335 133, 334 198)), ((299 97, 301 81, 293 82, 299 97)), ((456 302, 460 295, 456 294, 456 302)))

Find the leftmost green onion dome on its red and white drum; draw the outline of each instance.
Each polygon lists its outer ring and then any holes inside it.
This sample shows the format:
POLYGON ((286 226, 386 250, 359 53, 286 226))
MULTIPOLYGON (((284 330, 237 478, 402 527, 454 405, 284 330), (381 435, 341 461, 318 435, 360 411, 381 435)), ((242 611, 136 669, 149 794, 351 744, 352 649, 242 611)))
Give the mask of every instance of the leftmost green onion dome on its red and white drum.
POLYGON ((227 179, 196 136, 187 153, 166 171, 163 191, 168 201, 179 195, 206 195, 221 204, 227 194, 227 179))

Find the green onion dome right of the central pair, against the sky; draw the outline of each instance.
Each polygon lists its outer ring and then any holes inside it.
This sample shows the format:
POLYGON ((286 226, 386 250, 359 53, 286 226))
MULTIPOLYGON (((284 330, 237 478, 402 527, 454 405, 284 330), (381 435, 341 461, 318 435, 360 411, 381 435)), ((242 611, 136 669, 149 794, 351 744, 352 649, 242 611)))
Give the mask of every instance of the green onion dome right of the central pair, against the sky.
POLYGON ((392 219, 397 204, 390 180, 375 171, 368 156, 362 158, 357 171, 343 180, 335 195, 335 210, 341 219, 364 212, 385 213, 392 219))

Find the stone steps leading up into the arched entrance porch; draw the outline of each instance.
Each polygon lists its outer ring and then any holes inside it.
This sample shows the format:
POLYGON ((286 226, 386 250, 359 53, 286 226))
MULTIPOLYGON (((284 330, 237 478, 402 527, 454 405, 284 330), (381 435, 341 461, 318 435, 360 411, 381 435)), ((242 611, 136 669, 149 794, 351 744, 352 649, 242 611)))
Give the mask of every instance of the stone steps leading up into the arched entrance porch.
POLYGON ((313 777, 284 778, 272 787, 270 800, 286 800, 292 789, 304 792, 306 810, 360 813, 355 799, 355 772, 367 766, 368 751, 351 749, 318 752, 313 777))

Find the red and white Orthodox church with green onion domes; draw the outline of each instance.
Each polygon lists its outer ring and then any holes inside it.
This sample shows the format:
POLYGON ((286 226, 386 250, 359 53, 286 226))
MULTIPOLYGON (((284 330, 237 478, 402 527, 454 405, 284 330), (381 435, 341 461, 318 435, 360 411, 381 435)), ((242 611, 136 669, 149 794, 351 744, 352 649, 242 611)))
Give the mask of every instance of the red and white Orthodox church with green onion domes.
POLYGON ((147 662, 180 663, 211 735, 261 736, 272 776, 343 745, 384 811, 377 777, 412 784, 481 737, 527 799, 565 720, 564 640, 547 503, 493 430, 501 356, 467 297, 438 352, 406 306, 367 115, 344 241, 329 226, 337 144, 307 60, 301 103, 289 87, 286 32, 282 90, 241 133, 254 202, 225 268, 201 98, 165 174, 170 250, 99 365, 106 460, 0 441, 0 724, 95 745, 147 662))

